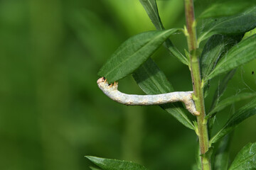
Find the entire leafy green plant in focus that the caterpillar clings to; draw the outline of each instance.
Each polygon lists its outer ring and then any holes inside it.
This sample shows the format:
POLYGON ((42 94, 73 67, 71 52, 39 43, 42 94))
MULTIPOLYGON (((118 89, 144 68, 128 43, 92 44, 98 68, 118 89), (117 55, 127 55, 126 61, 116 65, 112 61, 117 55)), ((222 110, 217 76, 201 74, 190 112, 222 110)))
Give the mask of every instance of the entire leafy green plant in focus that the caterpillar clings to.
MULTIPOLYGON (((223 111, 224 108, 230 105, 234 108, 236 102, 242 102, 245 99, 256 96, 255 93, 240 93, 220 100, 220 97, 223 96, 227 89, 228 82, 233 78, 238 67, 256 58, 256 35, 254 35, 254 31, 252 30, 256 27, 256 7, 251 6, 253 3, 250 4, 250 1, 238 1, 235 4, 233 4, 233 1, 224 1, 210 5, 201 13, 201 21, 198 22, 198 28, 201 28, 201 30, 199 30, 197 42, 196 40, 190 42, 193 39, 191 38, 191 36, 193 37, 193 31, 188 29, 193 30, 193 28, 196 28, 196 24, 193 23, 189 27, 189 22, 187 22, 188 28, 186 30, 188 32, 186 33, 186 37, 189 45, 191 43, 197 43, 196 45, 199 46, 203 40, 207 40, 204 44, 203 51, 185 49, 186 57, 184 57, 171 40, 169 40, 170 35, 180 33, 182 29, 174 28, 165 30, 159 17, 156 1, 139 1, 157 30, 140 33, 125 41, 114 52, 102 69, 100 69, 99 75, 106 77, 107 81, 112 83, 132 74, 139 87, 146 94, 165 94, 174 91, 173 86, 166 78, 164 72, 151 59, 151 55, 164 43, 170 54, 177 57, 183 64, 188 65, 188 68, 191 70, 193 89, 195 91, 193 100, 196 103, 196 108, 200 108, 198 111, 203 111, 205 109, 204 100, 201 100, 203 97, 200 95, 205 92, 204 97, 206 97, 208 93, 211 93, 210 81, 215 81, 213 79, 214 77, 228 72, 223 80, 218 83, 218 88, 213 95, 208 115, 206 117, 204 115, 203 117, 199 116, 197 119, 198 122, 188 115, 188 111, 183 108, 181 103, 161 105, 161 108, 173 115, 186 128, 195 130, 201 142, 204 142, 200 143, 198 153, 196 153, 197 164, 194 164, 193 169, 199 170, 201 167, 203 169, 210 169, 210 166, 213 166, 216 170, 228 169, 230 161, 230 136, 232 136, 230 132, 242 123, 243 120, 256 114, 256 99, 253 99, 236 112, 233 109, 233 115, 228 118, 223 128, 220 128, 213 137, 211 137, 211 133, 213 125, 215 125, 216 113, 223 111), (230 7, 229 10, 225 10, 228 7, 230 7), (246 35, 244 36, 245 33, 246 35), (195 69, 195 67, 198 69, 195 69), (197 75, 195 72, 198 75, 201 73, 201 77, 194 77, 197 75), (203 80, 203 84, 198 83, 201 83, 201 79, 203 80), (198 103, 198 101, 200 102, 198 103), (207 123, 208 126, 206 126, 207 123), (202 136, 204 137, 203 140, 202 136), (210 140, 208 140, 208 136, 210 136, 210 140), (216 142, 218 141, 220 142, 217 145, 216 142), (217 147, 213 146, 213 144, 217 147), (200 151, 202 149, 204 152, 201 154, 200 151), (213 158, 213 164, 209 163, 211 158, 213 158)), ((191 9, 188 8, 190 4, 188 1, 185 2, 186 13, 189 14, 191 12, 188 10, 191 9)), ((187 17, 186 19, 191 18, 187 17)), ((191 20, 193 21, 193 18, 191 20)), ((188 47, 190 47, 189 45, 188 47)), ((237 168, 238 164, 244 164, 245 161, 240 157, 242 156, 238 154, 230 169, 234 169, 233 167, 237 168), (242 163, 238 159, 242 160, 242 163)), ((87 158, 104 170, 117 169, 117 167, 119 169, 145 169, 143 166, 131 162, 97 157, 87 158)), ((253 163, 250 163, 250 166, 253 167, 253 163)), ((240 169, 242 167, 245 166, 241 165, 240 169)))

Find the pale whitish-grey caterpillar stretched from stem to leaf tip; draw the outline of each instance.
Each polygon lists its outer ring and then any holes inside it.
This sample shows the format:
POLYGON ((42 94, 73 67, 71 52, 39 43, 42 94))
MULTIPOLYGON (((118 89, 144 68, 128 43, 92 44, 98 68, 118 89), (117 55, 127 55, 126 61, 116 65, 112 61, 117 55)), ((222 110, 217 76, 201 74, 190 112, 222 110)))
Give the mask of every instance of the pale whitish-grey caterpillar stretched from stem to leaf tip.
POLYGON ((160 105, 164 103, 172 103, 182 101, 186 109, 193 115, 200 115, 196 111, 195 103, 192 99, 193 91, 176 91, 168 94, 155 94, 155 95, 136 95, 124 94, 117 90, 117 83, 108 84, 107 80, 102 77, 97 80, 99 88, 112 100, 125 105, 160 105))

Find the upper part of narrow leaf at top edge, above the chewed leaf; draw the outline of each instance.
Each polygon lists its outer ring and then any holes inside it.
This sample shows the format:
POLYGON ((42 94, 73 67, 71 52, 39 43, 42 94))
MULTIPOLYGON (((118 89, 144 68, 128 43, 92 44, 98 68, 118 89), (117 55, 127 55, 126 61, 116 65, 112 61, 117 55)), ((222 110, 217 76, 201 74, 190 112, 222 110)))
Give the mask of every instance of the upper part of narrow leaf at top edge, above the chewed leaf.
POLYGON ((156 0, 139 0, 157 30, 164 30, 159 17, 156 0))

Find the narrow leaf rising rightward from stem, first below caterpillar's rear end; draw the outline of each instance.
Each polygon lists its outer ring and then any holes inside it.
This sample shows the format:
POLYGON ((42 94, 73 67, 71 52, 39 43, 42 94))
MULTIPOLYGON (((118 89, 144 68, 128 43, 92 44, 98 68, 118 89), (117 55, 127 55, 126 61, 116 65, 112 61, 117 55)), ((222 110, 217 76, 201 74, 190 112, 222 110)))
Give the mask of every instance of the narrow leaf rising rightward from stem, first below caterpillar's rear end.
POLYGON ((233 114, 223 128, 221 128, 221 130, 210 139, 210 144, 217 142, 221 137, 224 137, 235 129, 243 120, 255 114, 256 98, 233 114))

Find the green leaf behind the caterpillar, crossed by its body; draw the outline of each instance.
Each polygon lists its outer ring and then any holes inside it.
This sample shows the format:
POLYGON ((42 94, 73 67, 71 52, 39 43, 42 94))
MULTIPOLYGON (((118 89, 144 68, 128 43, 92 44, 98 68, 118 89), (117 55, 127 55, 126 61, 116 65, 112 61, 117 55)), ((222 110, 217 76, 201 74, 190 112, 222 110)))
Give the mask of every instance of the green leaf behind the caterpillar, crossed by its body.
MULTIPOLYGON (((134 72, 133 77, 146 94, 165 94, 174 91, 164 72, 161 72, 151 58, 134 72)), ((187 128, 194 129, 193 123, 186 115, 188 112, 181 103, 168 103, 161 105, 161 108, 164 108, 187 128)))

